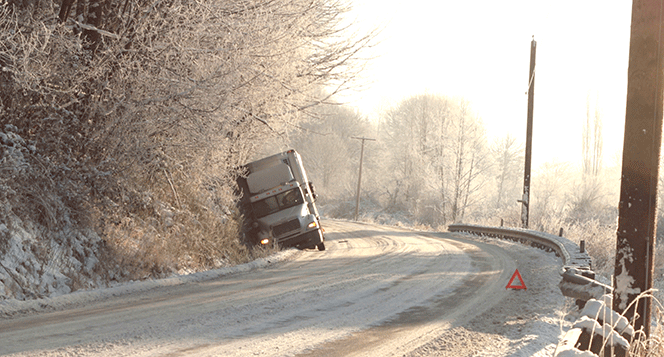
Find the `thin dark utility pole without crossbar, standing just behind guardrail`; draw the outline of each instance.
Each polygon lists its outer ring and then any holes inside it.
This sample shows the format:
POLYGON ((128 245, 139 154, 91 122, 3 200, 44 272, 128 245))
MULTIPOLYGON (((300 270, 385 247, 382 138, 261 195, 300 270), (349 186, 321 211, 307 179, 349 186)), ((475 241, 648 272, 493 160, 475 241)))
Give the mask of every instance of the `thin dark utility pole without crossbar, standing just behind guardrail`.
POLYGON ((530 42, 530 75, 528 76, 528 124, 526 125, 526 163, 523 170, 523 196, 521 202, 521 225, 528 228, 528 206, 530 204, 530 161, 533 146, 533 104, 535 101, 535 36, 530 42))

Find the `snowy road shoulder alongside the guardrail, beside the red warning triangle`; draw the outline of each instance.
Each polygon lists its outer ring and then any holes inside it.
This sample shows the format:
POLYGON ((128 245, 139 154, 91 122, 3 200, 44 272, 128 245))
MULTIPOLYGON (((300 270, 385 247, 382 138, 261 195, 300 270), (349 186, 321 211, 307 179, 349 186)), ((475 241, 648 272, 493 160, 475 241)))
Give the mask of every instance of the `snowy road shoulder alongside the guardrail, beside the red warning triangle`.
POLYGON ((509 290, 509 294, 486 313, 445 331, 408 357, 553 355, 558 341, 574 320, 570 313, 576 310, 573 301, 565 298, 558 288, 560 258, 510 241, 464 237, 511 252, 527 290, 509 290))

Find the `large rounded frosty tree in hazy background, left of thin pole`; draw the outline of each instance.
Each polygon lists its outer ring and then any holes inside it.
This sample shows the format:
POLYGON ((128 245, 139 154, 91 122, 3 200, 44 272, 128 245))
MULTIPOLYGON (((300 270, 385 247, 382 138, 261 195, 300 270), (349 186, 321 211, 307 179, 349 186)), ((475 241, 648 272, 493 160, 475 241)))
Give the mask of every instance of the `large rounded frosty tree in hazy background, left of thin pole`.
POLYGON ((387 111, 382 140, 390 157, 390 205, 428 224, 463 220, 489 166, 485 131, 470 104, 423 94, 387 111))

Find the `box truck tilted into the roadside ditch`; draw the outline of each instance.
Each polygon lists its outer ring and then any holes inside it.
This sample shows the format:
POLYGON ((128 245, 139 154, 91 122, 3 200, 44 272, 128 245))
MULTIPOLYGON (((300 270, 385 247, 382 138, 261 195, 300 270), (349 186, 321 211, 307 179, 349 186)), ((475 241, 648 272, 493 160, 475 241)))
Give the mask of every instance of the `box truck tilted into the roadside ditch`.
POLYGON ((250 243, 325 250, 317 195, 297 151, 242 166, 237 184, 243 234, 250 243))

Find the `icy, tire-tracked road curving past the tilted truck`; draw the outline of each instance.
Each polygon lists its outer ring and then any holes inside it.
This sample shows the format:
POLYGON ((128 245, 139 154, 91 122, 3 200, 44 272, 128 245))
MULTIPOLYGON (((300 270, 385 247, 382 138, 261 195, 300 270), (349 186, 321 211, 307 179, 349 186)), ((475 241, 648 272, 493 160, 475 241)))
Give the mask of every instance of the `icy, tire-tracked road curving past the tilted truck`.
MULTIPOLYGON (((327 250, 207 280, 0 319, 14 356, 551 355, 565 299, 551 253, 325 221, 327 250), (515 269, 528 290, 505 289, 515 269)), ((72 294, 74 295, 74 294, 72 294)))

